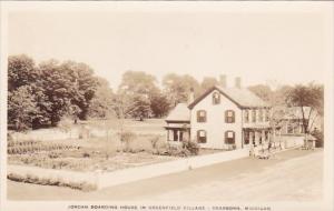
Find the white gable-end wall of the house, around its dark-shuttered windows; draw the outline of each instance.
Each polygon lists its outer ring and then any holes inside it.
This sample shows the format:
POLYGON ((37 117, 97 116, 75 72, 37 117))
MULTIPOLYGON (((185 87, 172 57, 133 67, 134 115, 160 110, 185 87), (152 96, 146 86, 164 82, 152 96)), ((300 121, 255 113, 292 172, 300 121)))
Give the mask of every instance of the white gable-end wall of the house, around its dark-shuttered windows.
POLYGON ((225 96, 220 94, 220 103, 213 104, 213 93, 212 91, 202 101, 199 101, 191 109, 191 140, 197 140, 197 131, 205 130, 207 134, 207 142, 199 143, 202 148, 210 149, 228 149, 225 144, 225 131, 232 130, 235 132, 235 144, 236 148, 242 148, 242 110, 225 96), (197 111, 206 111, 206 122, 197 122, 197 111), (235 111, 235 122, 225 123, 225 111, 235 111))

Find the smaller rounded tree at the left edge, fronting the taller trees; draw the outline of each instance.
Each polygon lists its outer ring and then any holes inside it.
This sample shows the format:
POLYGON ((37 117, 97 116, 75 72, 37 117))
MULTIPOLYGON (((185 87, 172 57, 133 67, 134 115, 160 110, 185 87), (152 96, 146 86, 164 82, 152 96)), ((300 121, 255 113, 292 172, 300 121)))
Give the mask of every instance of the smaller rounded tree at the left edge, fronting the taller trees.
POLYGON ((29 86, 21 86, 8 94, 8 122, 18 131, 31 128, 38 113, 37 102, 29 86))

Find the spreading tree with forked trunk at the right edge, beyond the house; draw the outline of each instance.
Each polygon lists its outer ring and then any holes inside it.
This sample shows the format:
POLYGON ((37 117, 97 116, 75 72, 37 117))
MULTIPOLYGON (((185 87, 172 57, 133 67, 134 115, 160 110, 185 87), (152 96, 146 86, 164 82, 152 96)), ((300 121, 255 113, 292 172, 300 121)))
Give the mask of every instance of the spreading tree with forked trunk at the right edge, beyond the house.
POLYGON ((323 87, 314 83, 295 86, 288 93, 286 100, 289 105, 298 107, 301 109, 302 125, 304 128, 305 139, 307 140, 307 134, 310 134, 315 118, 318 115, 317 110, 323 110, 323 87), (307 113, 306 107, 310 107, 307 113))

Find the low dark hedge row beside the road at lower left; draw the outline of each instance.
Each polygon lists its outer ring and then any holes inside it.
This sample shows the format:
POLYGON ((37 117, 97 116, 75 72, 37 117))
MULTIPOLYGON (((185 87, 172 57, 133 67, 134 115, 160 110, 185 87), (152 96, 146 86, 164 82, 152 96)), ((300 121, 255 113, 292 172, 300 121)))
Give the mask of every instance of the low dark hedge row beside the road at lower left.
POLYGON ((97 190, 96 184, 90 184, 88 182, 65 182, 62 179, 39 178, 37 175, 31 175, 31 174, 21 175, 17 173, 9 173, 7 178, 16 182, 26 182, 26 183, 33 183, 33 184, 41 184, 41 185, 67 187, 67 188, 77 189, 81 191, 97 190))

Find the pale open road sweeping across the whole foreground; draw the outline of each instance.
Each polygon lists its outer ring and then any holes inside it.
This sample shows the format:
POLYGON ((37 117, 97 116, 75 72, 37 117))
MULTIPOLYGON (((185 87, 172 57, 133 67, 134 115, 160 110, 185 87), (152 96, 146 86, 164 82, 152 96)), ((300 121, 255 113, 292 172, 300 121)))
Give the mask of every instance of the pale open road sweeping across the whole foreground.
POLYGON ((94 192, 8 181, 9 200, 310 201, 322 199, 323 151, 245 158, 94 192), (40 193, 43 194, 40 194, 40 193))

